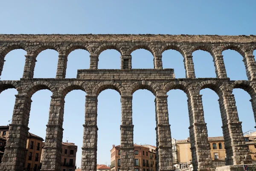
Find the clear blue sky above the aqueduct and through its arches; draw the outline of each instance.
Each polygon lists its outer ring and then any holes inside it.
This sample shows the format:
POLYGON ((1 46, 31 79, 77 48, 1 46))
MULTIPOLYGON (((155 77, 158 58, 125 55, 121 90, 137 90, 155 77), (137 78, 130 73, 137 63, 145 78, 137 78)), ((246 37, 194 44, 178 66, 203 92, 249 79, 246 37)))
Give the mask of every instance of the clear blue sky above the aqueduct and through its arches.
MULTIPOLYGON (((190 34, 256 35, 255 0, 44 0, 1 2, 1 34, 190 34)), ((254 55, 256 53, 254 52, 254 55)), ((26 52, 13 50, 6 55, 1 80, 22 77, 26 52)), ((144 49, 132 54, 133 68, 153 68, 153 56, 144 49)), ((242 56, 233 50, 223 52, 227 75, 232 80, 247 80, 242 56)), ((58 53, 45 50, 37 57, 35 78, 55 78, 58 53)), ((216 77, 212 56, 193 53, 196 77, 216 77)), ((184 78, 183 57, 174 50, 163 53, 163 67, 174 68, 176 78, 184 78)), ((75 78, 77 69, 89 68, 89 53, 75 50, 68 56, 67 78, 75 78)), ((106 50, 99 56, 100 69, 119 69, 120 53, 106 50)), ((218 96, 201 90, 209 136, 223 136, 218 96)), ((9 124, 15 102, 14 89, 0 94, 0 125, 9 124)), ((255 130, 250 96, 244 90, 233 91, 243 132, 255 130)), ((64 109, 64 136, 78 145, 77 167, 81 167, 81 145, 86 93, 67 94, 64 109)), ((187 97, 181 90, 168 92, 169 122, 172 137, 189 137, 187 97)), ((29 118, 31 133, 45 138, 51 92, 40 90, 32 96, 29 118)), ((98 102, 98 164, 110 164, 112 145, 120 144, 121 104, 115 90, 105 90, 98 102)), ((138 90, 133 96, 134 143, 156 144, 154 95, 138 90)))

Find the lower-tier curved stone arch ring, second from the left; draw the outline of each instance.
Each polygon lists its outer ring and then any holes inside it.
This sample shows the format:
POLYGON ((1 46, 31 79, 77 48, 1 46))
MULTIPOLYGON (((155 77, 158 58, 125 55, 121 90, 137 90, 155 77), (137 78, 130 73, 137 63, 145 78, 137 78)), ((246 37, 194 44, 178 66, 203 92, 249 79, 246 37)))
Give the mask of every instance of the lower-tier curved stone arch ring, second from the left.
POLYGON ((52 92, 52 96, 56 96, 58 94, 55 86, 49 83, 48 81, 35 81, 26 86, 26 89, 23 91, 23 95, 32 97, 32 95, 37 91, 45 89, 50 90, 52 92))

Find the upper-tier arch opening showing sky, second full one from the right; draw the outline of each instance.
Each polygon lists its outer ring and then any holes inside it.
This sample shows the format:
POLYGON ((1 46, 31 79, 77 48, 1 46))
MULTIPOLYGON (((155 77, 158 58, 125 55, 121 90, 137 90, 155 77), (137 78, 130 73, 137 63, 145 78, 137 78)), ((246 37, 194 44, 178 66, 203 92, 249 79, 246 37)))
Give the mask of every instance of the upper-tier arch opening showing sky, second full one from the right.
POLYGON ((196 78, 216 78, 214 62, 209 52, 196 50, 192 55, 196 78))

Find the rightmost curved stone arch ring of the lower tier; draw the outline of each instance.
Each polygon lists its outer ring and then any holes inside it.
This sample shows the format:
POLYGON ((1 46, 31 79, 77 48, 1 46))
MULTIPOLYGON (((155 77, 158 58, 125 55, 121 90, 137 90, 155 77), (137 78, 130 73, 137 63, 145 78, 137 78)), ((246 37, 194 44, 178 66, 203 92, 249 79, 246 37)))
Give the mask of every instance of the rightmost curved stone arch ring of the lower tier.
POLYGON ((251 98, 254 98, 256 96, 256 86, 253 83, 251 83, 250 81, 238 80, 238 81, 233 82, 229 87, 230 93, 232 93, 233 89, 235 89, 235 88, 243 89, 244 91, 249 93, 251 98))

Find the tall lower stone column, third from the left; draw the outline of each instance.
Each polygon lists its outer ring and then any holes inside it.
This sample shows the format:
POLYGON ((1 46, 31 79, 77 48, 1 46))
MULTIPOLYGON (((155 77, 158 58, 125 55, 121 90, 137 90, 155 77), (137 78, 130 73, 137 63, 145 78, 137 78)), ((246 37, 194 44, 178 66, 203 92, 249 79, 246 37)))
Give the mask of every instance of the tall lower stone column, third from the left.
POLYGON ((97 103, 96 96, 85 96, 85 123, 81 171, 96 171, 97 167, 97 103))

